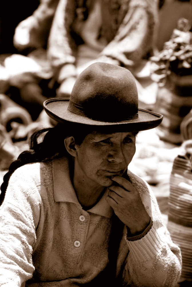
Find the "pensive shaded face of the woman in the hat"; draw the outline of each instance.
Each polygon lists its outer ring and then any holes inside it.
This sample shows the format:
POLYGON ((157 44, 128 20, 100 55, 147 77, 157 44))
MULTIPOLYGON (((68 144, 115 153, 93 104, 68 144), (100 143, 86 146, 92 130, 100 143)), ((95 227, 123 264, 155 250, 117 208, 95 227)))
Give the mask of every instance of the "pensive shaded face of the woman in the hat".
POLYGON ((76 147, 74 176, 90 185, 109 186, 113 175, 122 176, 135 153, 131 132, 88 134, 76 147))

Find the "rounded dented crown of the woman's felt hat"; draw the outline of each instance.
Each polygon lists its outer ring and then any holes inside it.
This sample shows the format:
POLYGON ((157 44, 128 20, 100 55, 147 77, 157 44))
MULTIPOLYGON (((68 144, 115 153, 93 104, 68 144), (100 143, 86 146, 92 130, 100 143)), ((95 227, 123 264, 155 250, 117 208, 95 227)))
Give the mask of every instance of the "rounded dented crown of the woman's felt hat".
POLYGON ((90 65, 74 84, 68 110, 106 122, 137 117, 138 92, 133 75, 117 65, 90 65))

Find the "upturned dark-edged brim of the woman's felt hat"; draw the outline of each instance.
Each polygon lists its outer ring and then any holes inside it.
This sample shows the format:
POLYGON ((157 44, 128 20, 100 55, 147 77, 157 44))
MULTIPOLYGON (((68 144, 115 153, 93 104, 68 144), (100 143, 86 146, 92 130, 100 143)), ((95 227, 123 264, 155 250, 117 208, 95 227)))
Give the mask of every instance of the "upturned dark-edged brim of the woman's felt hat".
POLYGON ((160 125, 163 116, 149 110, 138 108, 138 117, 119 122, 103 122, 92 120, 68 110, 69 98, 53 98, 45 100, 43 108, 49 117, 58 123, 67 123, 94 130, 110 129, 114 131, 144 131, 160 125))

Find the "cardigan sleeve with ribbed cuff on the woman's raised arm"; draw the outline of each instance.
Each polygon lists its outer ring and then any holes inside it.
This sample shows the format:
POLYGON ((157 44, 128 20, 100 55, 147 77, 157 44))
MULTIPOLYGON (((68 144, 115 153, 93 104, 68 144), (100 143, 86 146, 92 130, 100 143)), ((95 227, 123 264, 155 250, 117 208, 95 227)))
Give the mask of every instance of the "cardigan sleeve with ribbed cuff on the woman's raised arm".
POLYGON ((163 222, 157 200, 151 188, 142 179, 131 177, 142 202, 153 221, 151 229, 138 240, 128 240, 123 280, 132 278, 134 286, 174 287, 181 274, 181 252, 170 237, 163 222), (136 183, 138 181, 138 183, 136 183))

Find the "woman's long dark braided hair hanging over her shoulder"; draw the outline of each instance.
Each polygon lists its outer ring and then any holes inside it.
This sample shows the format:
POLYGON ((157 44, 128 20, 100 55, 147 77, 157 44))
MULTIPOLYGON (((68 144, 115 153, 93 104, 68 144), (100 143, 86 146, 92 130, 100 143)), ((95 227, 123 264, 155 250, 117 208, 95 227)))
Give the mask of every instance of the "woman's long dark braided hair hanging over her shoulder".
POLYGON ((68 155, 64 145, 64 139, 74 136, 76 144, 80 145, 88 133, 90 133, 88 129, 80 129, 72 125, 63 125, 60 123, 55 127, 41 129, 33 133, 30 139, 30 149, 22 152, 17 160, 10 164, 8 172, 3 177, 0 206, 5 198, 5 192, 11 174, 13 174, 17 168, 27 163, 43 162, 53 156, 62 157, 68 155))

